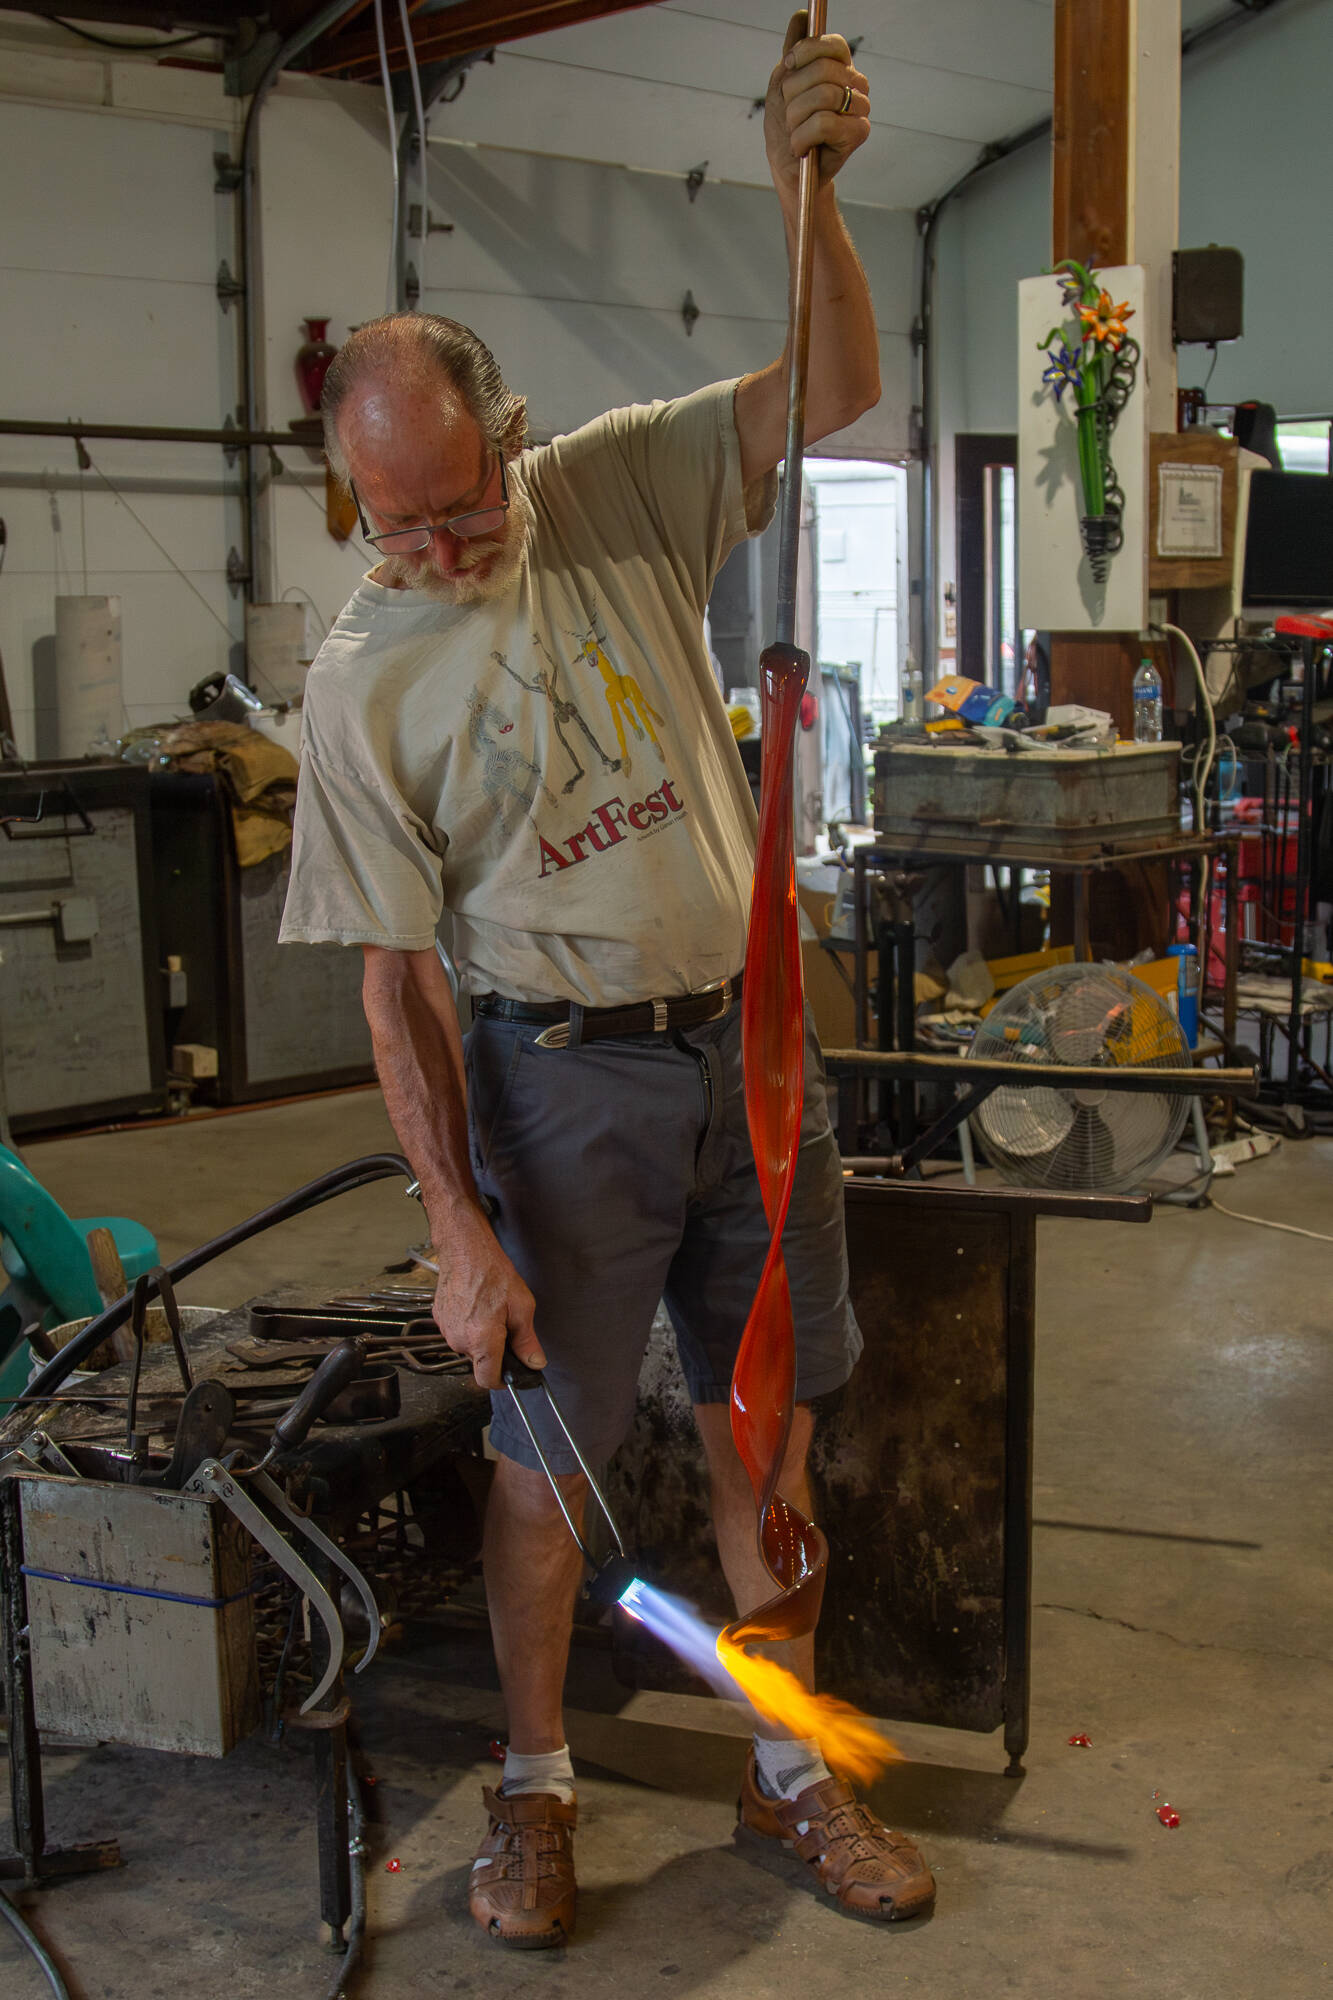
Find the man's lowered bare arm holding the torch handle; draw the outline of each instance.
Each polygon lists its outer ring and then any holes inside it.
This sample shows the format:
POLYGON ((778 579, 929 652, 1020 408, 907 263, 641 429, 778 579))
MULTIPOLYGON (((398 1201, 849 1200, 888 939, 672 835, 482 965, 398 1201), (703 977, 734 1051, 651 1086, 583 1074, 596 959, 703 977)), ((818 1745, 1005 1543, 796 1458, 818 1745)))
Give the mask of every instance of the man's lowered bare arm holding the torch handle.
POLYGON ((480 1388, 498 1388, 504 1336, 520 1360, 544 1364, 532 1294, 500 1250, 472 1180, 462 1032, 434 950, 366 944, 362 1004, 398 1144, 426 1208, 440 1278, 434 1318, 466 1354, 480 1388))

